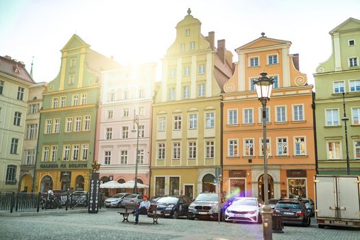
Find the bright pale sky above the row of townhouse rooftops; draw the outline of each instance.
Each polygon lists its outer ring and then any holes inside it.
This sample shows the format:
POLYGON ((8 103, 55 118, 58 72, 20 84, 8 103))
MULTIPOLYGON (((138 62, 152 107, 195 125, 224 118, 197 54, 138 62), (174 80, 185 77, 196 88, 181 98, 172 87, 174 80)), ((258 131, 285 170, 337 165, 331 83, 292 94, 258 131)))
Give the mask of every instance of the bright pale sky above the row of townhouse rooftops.
POLYGON ((60 49, 77 34, 91 49, 125 66, 160 60, 187 15, 235 49, 259 38, 289 40, 299 53, 300 71, 313 73, 331 56, 328 32, 348 18, 360 19, 359 0, 0 0, 0 56, 33 65, 35 82, 50 82, 60 70, 60 49), (33 58, 34 57, 34 58, 33 58))

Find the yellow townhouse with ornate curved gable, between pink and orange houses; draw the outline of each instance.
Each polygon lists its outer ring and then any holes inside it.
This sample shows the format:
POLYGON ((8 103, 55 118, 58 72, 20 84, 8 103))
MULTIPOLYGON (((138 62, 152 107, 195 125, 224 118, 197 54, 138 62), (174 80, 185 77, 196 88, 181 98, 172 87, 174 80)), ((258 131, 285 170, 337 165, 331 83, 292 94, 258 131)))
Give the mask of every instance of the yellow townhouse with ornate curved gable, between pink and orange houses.
POLYGON ((221 166, 221 91, 232 75, 232 53, 215 33, 201 34, 191 15, 176 25, 176 40, 162 60, 152 106, 150 195, 216 192, 221 166))

